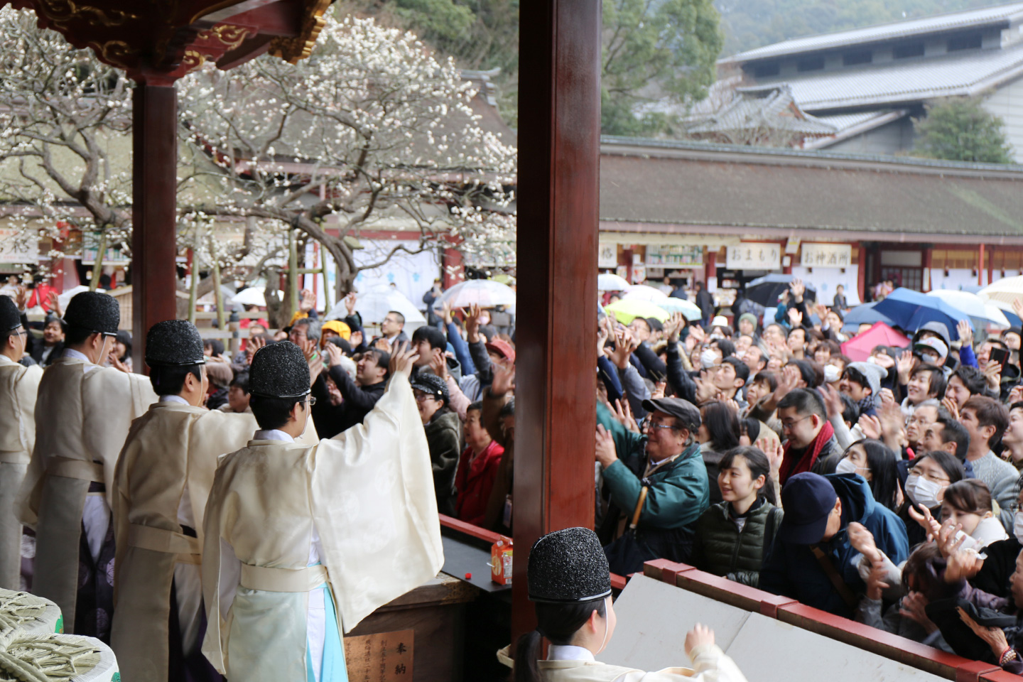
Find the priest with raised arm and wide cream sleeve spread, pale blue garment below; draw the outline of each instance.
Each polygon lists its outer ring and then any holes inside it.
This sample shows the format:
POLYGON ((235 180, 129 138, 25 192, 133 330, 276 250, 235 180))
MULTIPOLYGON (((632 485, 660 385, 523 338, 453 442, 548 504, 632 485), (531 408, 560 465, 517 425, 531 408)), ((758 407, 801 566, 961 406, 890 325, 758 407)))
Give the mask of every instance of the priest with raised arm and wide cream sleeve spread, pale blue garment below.
POLYGON ((221 459, 206 508, 203 652, 229 680, 347 680, 342 633, 444 563, 430 449, 408 376, 361 424, 313 446, 298 346, 260 349, 249 374, 260 430, 221 459))

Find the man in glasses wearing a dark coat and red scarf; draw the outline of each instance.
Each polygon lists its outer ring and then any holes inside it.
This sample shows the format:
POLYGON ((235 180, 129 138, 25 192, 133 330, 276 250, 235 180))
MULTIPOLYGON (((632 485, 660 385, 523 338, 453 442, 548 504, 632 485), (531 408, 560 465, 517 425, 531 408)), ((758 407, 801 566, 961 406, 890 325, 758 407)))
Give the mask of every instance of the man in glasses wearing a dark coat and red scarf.
POLYGON ((794 389, 779 401, 777 418, 786 439, 779 469, 782 486, 803 471, 835 472, 835 466, 842 459, 842 448, 826 414, 820 396, 809 389, 794 389))

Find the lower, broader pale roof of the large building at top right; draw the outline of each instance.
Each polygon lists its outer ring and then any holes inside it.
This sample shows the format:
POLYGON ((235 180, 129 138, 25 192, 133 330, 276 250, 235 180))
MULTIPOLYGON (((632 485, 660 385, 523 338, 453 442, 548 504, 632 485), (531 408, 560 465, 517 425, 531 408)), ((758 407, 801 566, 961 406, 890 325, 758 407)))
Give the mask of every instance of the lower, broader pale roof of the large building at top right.
POLYGON ((788 85, 802 108, 821 111, 974 95, 1021 74, 1023 44, 1004 50, 973 50, 927 59, 872 64, 862 69, 815 72, 813 75, 763 82, 739 90, 760 92, 788 85))

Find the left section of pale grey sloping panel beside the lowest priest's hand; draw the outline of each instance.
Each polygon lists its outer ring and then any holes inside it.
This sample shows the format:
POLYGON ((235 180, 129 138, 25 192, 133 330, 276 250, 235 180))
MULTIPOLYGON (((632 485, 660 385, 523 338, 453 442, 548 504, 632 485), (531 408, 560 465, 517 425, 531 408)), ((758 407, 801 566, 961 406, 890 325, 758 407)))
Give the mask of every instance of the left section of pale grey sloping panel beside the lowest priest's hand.
POLYGON ((640 670, 688 666, 685 633, 697 623, 712 628, 718 645, 725 648, 750 616, 646 576, 629 581, 615 600, 615 613, 614 637, 597 661, 640 670))

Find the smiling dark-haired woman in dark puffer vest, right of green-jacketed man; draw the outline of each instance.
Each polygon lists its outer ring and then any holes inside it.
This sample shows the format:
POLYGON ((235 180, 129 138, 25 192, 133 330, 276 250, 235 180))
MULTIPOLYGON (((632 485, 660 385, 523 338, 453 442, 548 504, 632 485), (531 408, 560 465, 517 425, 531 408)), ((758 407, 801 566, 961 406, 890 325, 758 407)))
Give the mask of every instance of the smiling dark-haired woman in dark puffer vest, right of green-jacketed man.
POLYGON ((732 448, 718 465, 723 502, 711 505, 696 526, 692 563, 701 571, 757 587, 760 564, 779 526, 770 463, 757 448, 732 448))

